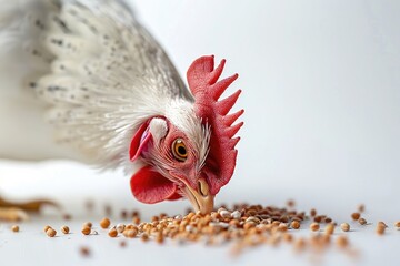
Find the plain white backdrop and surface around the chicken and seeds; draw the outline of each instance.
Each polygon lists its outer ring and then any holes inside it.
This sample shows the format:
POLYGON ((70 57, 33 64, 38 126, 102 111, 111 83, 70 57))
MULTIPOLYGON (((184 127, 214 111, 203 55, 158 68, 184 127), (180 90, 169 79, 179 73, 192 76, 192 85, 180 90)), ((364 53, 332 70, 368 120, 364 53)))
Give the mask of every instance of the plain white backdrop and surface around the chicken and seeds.
MULTIPOLYGON (((226 75, 240 74, 233 88, 243 90, 244 108, 237 172, 217 202, 318 208, 339 223, 349 221, 359 203, 373 223, 400 219, 400 3, 398 1, 132 1, 136 12, 160 40, 180 72, 200 54, 226 58, 226 75)), ((0 190, 10 197, 48 196, 78 216, 91 219, 86 198, 116 209, 182 212, 188 204, 144 206, 134 202, 121 173, 98 174, 70 163, 0 164, 0 190)), ((81 221, 80 221, 80 219, 81 221)), ((290 248, 249 252, 238 260, 227 248, 201 245, 162 248, 140 242, 120 249, 118 241, 99 236, 48 239, 44 216, 27 224, 26 234, 0 232, 1 265, 78 265, 77 247, 90 242, 87 264, 139 265, 309 265, 290 248)), ((326 265, 398 265, 400 232, 384 237, 371 231, 351 233, 360 249, 357 262, 337 252, 326 265)), ((307 231, 302 232, 308 234, 307 231)), ((301 234, 302 234, 301 233, 301 234)))

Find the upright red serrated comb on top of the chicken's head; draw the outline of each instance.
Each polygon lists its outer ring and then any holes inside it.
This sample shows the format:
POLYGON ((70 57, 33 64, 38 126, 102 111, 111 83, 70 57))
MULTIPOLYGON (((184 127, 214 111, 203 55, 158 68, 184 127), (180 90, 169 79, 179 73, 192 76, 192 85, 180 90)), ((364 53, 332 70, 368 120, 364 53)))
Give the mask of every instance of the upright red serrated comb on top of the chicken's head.
POLYGON ((234 146, 240 140, 240 137, 233 136, 243 125, 243 122, 232 125, 243 113, 243 110, 228 114, 238 100, 241 90, 218 101, 227 88, 238 79, 238 74, 234 74, 218 81, 224 63, 226 60, 222 60, 214 69, 213 55, 201 57, 190 65, 187 73, 189 88, 196 100, 196 114, 202 119, 203 123, 211 126, 210 151, 203 173, 213 195, 229 182, 233 174, 238 154, 234 146))

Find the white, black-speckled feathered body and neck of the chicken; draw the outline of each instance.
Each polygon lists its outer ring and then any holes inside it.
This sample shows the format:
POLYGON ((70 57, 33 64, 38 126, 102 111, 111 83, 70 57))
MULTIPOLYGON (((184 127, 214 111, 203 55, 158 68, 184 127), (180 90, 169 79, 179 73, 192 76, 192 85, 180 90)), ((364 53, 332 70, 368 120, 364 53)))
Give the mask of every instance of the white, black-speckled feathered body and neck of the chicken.
POLYGON ((122 2, 0 3, 0 157, 127 166, 153 115, 203 143, 191 94, 122 2))

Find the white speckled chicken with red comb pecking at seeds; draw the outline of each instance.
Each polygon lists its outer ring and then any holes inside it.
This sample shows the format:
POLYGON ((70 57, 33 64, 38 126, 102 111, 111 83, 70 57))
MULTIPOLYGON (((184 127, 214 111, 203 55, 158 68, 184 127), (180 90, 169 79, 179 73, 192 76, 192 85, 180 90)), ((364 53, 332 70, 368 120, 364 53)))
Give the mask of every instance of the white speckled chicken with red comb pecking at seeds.
MULTIPOLYGON (((224 60, 197 59, 189 91, 122 1, 0 2, 0 157, 123 167, 142 203, 212 211, 243 124, 229 113, 241 91, 219 100, 238 78, 219 80, 224 60)), ((0 218, 20 216, 12 205, 0 218)))

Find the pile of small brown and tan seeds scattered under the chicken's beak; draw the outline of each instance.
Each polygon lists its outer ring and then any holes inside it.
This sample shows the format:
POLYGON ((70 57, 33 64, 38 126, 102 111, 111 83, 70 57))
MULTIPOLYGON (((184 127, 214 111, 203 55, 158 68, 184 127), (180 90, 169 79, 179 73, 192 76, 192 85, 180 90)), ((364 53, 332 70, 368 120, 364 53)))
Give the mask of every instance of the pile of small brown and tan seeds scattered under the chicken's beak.
MULTIPOLYGON (((209 246, 232 243, 232 254, 240 254, 243 248, 260 245, 277 246, 281 243, 290 244, 294 250, 324 250, 334 243, 342 250, 348 252, 350 242, 346 232, 350 231, 349 223, 337 225, 327 215, 319 215, 316 209, 309 214, 293 209, 294 202, 288 202, 288 208, 278 208, 262 205, 234 205, 233 208, 222 206, 211 214, 201 215, 200 213, 189 212, 187 215, 177 215, 169 217, 167 214, 153 216, 150 222, 142 222, 139 212, 132 213, 132 223, 112 224, 108 217, 99 222, 102 229, 108 231, 109 237, 123 236, 124 238, 139 238, 142 242, 153 241, 158 244, 167 239, 183 243, 204 243, 209 246), (306 221, 311 222, 309 229, 312 232, 309 237, 297 236, 294 231, 301 228, 306 221), (337 227, 340 227, 342 234, 333 235, 337 227)), ((360 225, 369 225, 366 218, 361 217, 364 206, 360 205, 358 212, 350 215, 353 222, 360 225)), ((107 213, 110 213, 108 209, 107 213)), ((128 213, 123 211, 121 217, 128 218, 128 213)), ((69 218, 70 219, 70 216, 69 218)), ((377 223, 376 232, 383 235, 388 225, 383 222, 377 223)), ((400 222, 394 224, 400 229, 400 222)), ((18 226, 12 226, 13 232, 19 232, 18 226)), ((62 226, 60 231, 69 234, 70 228, 62 226)), ((44 233, 49 237, 54 237, 57 231, 51 226, 44 227, 44 233)), ((92 228, 92 223, 87 222, 82 225, 83 235, 98 235, 92 228)), ((120 242, 124 247, 126 241, 120 242)), ((90 254, 89 247, 81 248, 82 256, 90 254)))

